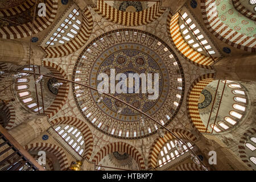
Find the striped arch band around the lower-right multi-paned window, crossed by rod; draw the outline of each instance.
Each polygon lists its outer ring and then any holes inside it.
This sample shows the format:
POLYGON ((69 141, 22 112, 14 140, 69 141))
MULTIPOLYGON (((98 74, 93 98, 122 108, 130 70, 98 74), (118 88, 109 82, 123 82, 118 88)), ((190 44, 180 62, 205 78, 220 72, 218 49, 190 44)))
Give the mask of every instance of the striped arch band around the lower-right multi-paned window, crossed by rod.
MULTIPOLYGON (((174 132, 179 138, 188 139, 188 140, 191 140, 192 142, 197 141, 197 137, 195 135, 193 135, 192 133, 190 133, 189 131, 182 130, 182 129, 175 129, 175 130, 172 130, 172 132, 174 132)), ((166 131, 163 138, 158 137, 155 139, 154 143, 152 144, 152 146, 150 148, 150 152, 148 155, 148 169, 154 169, 157 166, 157 163, 158 163, 157 159, 158 159, 158 154, 159 154, 160 150, 162 149, 162 147, 164 146, 164 144, 166 142, 168 142, 174 138, 175 137, 172 136, 171 133, 166 131)))

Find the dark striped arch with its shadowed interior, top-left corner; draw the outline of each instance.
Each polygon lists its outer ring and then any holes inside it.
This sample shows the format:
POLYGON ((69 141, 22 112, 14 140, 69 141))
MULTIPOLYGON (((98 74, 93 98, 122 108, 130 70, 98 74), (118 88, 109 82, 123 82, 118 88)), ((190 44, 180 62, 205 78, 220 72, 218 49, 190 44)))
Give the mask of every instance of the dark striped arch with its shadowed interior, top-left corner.
MULTIPOLYGON (((49 10, 46 16, 35 16, 33 34, 38 34, 50 26, 57 14, 57 0, 46 0, 44 2, 49 10)), ((8 19, 8 21, 1 20, 0 22, 0 38, 20 39, 30 36, 34 6, 35 0, 31 0, 10 9, 0 10, 0 18, 8 19)))

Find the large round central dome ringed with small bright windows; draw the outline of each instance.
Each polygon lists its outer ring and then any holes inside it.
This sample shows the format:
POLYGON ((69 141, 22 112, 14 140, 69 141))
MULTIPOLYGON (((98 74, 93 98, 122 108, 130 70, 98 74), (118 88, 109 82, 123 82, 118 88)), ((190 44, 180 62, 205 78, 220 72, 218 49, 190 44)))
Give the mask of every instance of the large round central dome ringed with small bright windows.
MULTIPOLYGON (((109 78, 103 86, 104 92, 107 90, 163 125, 171 121, 181 104, 184 88, 181 65, 167 44, 147 32, 116 30, 96 38, 81 53, 74 73, 74 81, 93 88, 98 88, 102 82, 98 77, 104 74, 109 78), (118 75, 122 78, 117 78, 118 75), (133 75, 140 77, 137 81, 132 79, 130 84, 133 75), (115 86, 114 92, 111 82, 115 86), (122 92, 118 92, 117 85, 121 82, 122 92)), ((141 123, 141 113, 112 97, 103 94, 102 101, 97 102, 102 97, 101 92, 76 84, 73 84, 73 91, 82 115, 106 134, 138 138, 159 128, 148 118, 141 123)))

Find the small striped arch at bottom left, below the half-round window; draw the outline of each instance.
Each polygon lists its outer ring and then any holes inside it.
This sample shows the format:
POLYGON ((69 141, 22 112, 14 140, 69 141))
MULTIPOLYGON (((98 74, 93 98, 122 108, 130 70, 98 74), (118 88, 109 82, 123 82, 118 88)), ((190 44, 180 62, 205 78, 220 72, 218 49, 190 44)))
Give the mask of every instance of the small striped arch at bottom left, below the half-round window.
POLYGON ((60 170, 64 171, 68 168, 68 159, 67 155, 63 151, 62 148, 56 146, 55 144, 51 143, 31 143, 24 147, 27 151, 46 151, 50 152, 51 154, 55 155, 56 158, 59 160, 60 170))

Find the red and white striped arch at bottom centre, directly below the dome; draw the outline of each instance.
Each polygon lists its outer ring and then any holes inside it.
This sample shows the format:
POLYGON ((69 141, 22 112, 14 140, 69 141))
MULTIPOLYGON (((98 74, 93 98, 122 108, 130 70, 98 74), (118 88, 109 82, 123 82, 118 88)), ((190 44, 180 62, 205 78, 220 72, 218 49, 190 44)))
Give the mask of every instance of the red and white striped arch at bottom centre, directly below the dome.
POLYGON ((92 162, 96 163, 97 165, 106 155, 118 151, 126 152, 126 154, 129 154, 137 162, 139 169, 145 169, 145 163, 139 151, 135 147, 124 142, 109 143, 108 145, 104 146, 100 151, 97 152, 96 155, 94 155, 92 162))

